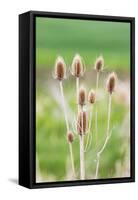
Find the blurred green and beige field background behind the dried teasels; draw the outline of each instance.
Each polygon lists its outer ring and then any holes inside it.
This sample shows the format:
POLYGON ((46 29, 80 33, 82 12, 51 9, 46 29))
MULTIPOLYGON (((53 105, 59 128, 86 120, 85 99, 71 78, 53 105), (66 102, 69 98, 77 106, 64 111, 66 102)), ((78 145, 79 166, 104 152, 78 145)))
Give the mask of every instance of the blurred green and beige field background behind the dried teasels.
MULTIPOLYGON (((71 166, 66 127, 59 93, 59 82, 54 80, 55 59, 63 56, 67 64, 64 92, 70 126, 76 112, 75 78, 69 67, 76 53, 86 64, 80 82, 87 90, 95 89, 94 62, 103 55, 104 71, 100 75, 98 95, 98 145, 95 145, 94 112, 92 145, 85 155, 86 179, 95 175, 96 152, 102 146, 107 125, 107 92, 105 80, 109 72, 118 75, 118 86, 113 95, 112 136, 102 154, 99 178, 130 176, 130 24, 71 19, 36 18, 36 181, 71 180, 71 166)), ((79 178, 79 140, 73 143, 75 167, 79 178)))

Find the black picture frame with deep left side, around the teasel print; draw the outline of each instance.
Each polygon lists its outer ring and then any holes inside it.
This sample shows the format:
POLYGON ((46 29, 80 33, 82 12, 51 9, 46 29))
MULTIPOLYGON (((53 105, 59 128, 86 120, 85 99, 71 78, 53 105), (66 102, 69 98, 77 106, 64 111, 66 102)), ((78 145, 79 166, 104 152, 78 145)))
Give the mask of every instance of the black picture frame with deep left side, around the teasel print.
POLYGON ((135 18, 29 11, 19 15, 19 184, 27 188, 78 186, 135 181, 135 18), (35 18, 129 22, 131 25, 131 176, 98 180, 35 182, 35 18))

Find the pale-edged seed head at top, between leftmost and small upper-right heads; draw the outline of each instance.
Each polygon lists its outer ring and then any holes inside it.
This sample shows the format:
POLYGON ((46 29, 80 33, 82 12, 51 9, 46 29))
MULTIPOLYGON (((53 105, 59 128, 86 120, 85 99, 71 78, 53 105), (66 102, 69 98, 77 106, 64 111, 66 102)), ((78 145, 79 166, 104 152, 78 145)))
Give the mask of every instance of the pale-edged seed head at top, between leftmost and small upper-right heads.
POLYGON ((73 76, 81 77, 84 74, 84 64, 79 54, 76 54, 73 58, 71 65, 71 73, 73 76))

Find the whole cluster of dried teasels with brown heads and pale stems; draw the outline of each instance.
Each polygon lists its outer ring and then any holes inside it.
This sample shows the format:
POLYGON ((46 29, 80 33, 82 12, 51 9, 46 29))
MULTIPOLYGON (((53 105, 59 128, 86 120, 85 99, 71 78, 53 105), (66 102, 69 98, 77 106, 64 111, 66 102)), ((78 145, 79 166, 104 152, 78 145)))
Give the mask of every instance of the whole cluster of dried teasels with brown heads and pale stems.
MULTIPOLYGON (((86 88, 84 86, 80 87, 80 77, 84 76, 84 72, 85 72, 84 61, 79 54, 76 54, 73 58, 72 65, 71 65, 71 74, 76 78, 75 99, 76 99, 76 104, 77 104, 77 114, 75 114, 76 116, 75 126, 74 126, 75 128, 73 131, 71 131, 69 120, 68 120, 68 113, 67 113, 66 105, 65 105, 65 95, 64 95, 64 88, 63 88, 63 80, 66 78, 66 64, 62 57, 57 57, 56 62, 55 62, 54 77, 59 82, 60 95, 62 99, 62 106, 63 106, 64 118, 65 118, 65 123, 66 123, 66 137, 67 137, 67 142, 69 145, 70 160, 71 160, 72 172, 73 172, 74 177, 76 177, 73 148, 72 148, 72 143, 75 139, 74 133, 76 133, 77 137, 79 138, 80 179, 81 180, 84 180, 86 177, 85 153, 87 152, 88 148, 91 146, 91 140, 93 138, 92 136, 93 107, 95 107, 95 112, 96 112, 96 116, 95 116, 95 123, 96 123, 95 146, 96 148, 97 148, 97 140, 98 141, 100 140, 100 138, 98 138, 98 127, 97 127, 97 120, 98 120, 97 98, 98 98, 98 88, 99 88, 99 76, 100 76, 101 71, 103 70, 103 66, 104 66, 104 60, 103 60, 103 57, 100 56, 99 58, 97 58, 95 62, 95 70, 97 72, 96 89, 95 91, 91 89, 87 95, 86 88)), ((117 80, 117 76, 114 72, 109 74, 107 78, 107 84, 106 84, 106 90, 108 92, 108 112, 107 112, 108 114, 107 114, 106 138, 101 149, 98 152, 96 150, 97 159, 96 159, 95 178, 98 178, 100 158, 111 136, 111 133, 110 133, 111 104, 112 104, 112 95, 113 95, 113 92, 115 91, 116 80, 117 80)))

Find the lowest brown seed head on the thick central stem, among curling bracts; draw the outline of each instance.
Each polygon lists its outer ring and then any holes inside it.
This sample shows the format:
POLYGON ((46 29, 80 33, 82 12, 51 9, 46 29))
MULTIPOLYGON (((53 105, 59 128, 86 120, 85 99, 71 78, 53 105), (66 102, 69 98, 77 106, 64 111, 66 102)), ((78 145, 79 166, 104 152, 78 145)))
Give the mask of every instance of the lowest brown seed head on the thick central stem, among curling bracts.
POLYGON ((85 134, 88 127, 88 118, 86 111, 80 111, 77 117, 77 132, 82 135, 85 134))

